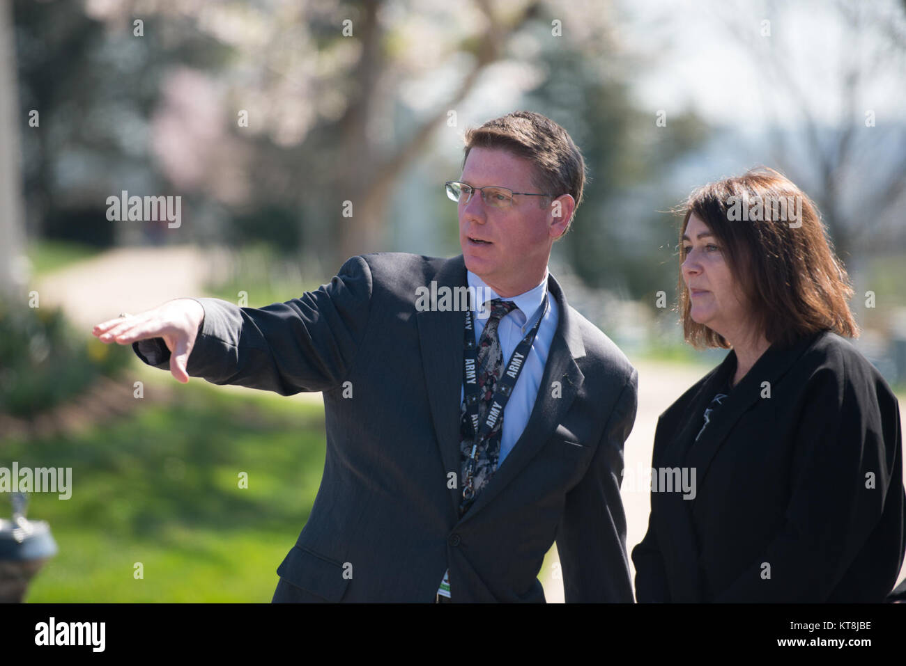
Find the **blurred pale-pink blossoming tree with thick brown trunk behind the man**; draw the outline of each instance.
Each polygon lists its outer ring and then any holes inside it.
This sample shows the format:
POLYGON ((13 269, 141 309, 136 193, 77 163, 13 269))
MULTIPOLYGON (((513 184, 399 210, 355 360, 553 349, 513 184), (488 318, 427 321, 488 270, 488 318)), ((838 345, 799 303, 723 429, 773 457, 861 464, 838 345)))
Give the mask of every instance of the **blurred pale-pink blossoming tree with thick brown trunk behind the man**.
MULTIPOLYGON (((233 50, 231 67, 218 71, 220 121, 248 148, 241 160, 211 152, 208 167, 196 169, 197 183, 186 185, 203 186, 241 161, 236 186, 221 189, 236 197, 243 219, 277 201, 294 202, 305 225, 299 237, 332 257, 333 268, 352 254, 384 249, 390 196, 448 113, 467 104, 493 65, 542 71, 545 48, 578 41, 593 49, 595 26, 611 20, 601 11, 608 5, 352 0, 265 11, 257 3, 185 3, 183 24, 233 50), (554 36, 554 21, 569 37, 554 36), (400 128, 398 119, 409 122, 400 128)), ((118 10, 104 20, 122 16, 118 10)), ((159 115, 173 120, 159 125, 187 125, 191 112, 162 104, 159 115)), ((193 140, 187 132, 157 151, 171 179, 203 152, 178 151, 193 140)))

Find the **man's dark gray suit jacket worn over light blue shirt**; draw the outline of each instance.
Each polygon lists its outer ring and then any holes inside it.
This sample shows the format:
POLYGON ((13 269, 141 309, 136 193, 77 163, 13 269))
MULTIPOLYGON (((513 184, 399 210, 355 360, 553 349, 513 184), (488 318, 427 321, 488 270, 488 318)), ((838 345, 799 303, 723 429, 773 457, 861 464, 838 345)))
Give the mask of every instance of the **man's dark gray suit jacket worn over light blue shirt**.
MULTIPOLYGON (((352 257, 329 284, 261 309, 199 299, 190 376, 323 392, 323 480, 274 601, 433 602, 449 567, 454 602, 543 602, 536 576, 556 539, 567 602, 631 603, 620 482, 636 370, 550 276, 560 316, 535 408, 460 519, 448 474, 465 313, 419 311, 431 281, 465 286, 462 255, 352 257)), ((169 369, 160 338, 134 347, 169 369)))

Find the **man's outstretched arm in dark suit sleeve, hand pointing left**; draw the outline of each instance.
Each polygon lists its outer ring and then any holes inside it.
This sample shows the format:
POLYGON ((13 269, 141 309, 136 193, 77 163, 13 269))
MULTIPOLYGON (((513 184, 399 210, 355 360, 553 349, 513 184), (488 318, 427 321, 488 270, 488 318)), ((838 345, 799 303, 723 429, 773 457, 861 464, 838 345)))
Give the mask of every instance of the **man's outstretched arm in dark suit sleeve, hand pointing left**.
POLYGON ((329 284, 265 308, 226 300, 177 299, 94 327, 103 342, 133 344, 149 365, 182 383, 198 376, 294 395, 342 383, 371 309, 371 270, 361 256, 329 284))

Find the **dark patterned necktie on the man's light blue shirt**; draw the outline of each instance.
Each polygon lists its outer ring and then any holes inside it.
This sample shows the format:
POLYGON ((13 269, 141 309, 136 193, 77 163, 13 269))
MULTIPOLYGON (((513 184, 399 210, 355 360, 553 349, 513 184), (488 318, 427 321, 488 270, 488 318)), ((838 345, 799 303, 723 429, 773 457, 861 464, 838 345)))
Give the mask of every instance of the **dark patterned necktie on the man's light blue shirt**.
MULTIPOLYGON (((500 319, 516 309, 516 303, 512 300, 494 299, 488 301, 491 305, 491 314, 487 318, 484 330, 481 331, 481 338, 477 346, 477 381, 478 391, 481 400, 478 402, 478 423, 483 423, 487 408, 491 404, 491 398, 494 396, 497 380, 503 372, 504 354, 500 348, 500 338, 497 336, 497 326, 500 319)), ((464 396, 465 397, 465 396, 464 396)), ((478 446, 475 453, 475 475, 473 484, 475 496, 470 501, 463 501, 459 507, 459 513, 464 514, 475 501, 478 492, 487 485, 491 475, 497 469, 497 459, 500 457, 500 436, 501 427, 503 426, 503 414, 497 419, 494 428, 487 435, 484 443, 478 446)), ((475 442, 475 433, 472 432, 472 426, 466 414, 466 401, 463 399, 460 405, 459 414, 459 434, 462 439, 459 444, 459 451, 462 454, 462 476, 465 482, 466 466, 469 456, 472 452, 472 444, 475 442)))

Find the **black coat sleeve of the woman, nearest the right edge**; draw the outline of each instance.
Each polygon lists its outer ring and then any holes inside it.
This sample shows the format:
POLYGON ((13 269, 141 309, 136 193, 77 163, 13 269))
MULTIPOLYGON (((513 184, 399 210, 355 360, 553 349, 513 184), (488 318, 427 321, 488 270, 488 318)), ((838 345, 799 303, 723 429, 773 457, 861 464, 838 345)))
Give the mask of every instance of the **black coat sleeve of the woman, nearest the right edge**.
POLYGON ((827 599, 878 525, 891 482, 899 483, 900 472, 892 470, 894 445, 901 446, 899 409, 880 389, 863 368, 840 358, 810 377, 793 433, 784 519, 715 602, 827 599))

